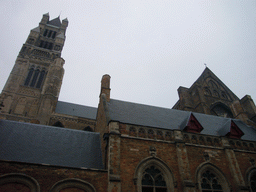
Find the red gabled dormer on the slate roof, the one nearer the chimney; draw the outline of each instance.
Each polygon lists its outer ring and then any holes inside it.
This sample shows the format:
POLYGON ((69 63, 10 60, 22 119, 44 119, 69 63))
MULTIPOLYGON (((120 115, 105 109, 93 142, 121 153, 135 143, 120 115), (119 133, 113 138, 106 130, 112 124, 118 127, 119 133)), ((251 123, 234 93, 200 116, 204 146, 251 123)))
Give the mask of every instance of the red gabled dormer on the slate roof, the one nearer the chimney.
POLYGON ((183 123, 180 125, 180 129, 190 133, 201 133, 204 129, 203 126, 199 123, 193 113, 190 113, 188 118, 186 118, 183 123))

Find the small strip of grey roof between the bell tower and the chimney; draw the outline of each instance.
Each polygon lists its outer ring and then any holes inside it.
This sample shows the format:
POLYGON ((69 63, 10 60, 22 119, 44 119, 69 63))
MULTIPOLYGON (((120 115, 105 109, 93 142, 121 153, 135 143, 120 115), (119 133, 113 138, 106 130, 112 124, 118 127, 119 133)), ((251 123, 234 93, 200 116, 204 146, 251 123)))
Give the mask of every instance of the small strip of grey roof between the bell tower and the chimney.
POLYGON ((97 108, 58 101, 55 113, 83 117, 88 119, 96 119, 97 108))

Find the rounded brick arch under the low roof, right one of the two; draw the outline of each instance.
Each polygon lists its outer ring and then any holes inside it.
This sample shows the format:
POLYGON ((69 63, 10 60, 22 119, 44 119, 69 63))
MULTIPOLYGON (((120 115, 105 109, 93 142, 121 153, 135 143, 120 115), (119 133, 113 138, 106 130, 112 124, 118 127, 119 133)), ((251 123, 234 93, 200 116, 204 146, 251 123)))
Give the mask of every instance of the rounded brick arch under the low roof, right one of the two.
POLYGON ((65 189, 70 189, 71 191, 72 189, 80 189, 84 192, 96 192, 92 184, 76 178, 64 179, 55 183, 51 188, 50 192, 59 192, 65 189))

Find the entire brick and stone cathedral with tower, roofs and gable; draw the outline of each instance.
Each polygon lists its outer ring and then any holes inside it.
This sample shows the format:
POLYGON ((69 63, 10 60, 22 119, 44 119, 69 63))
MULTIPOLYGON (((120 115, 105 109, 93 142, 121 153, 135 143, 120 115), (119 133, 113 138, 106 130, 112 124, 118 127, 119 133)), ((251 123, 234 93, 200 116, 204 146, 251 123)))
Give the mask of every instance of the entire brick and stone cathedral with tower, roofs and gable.
MULTIPOLYGON (((68 20, 44 14, 0 95, 0 191, 256 192, 256 107, 209 68, 172 109, 59 101, 68 20)), ((114 88, 114 87, 113 87, 114 88)))

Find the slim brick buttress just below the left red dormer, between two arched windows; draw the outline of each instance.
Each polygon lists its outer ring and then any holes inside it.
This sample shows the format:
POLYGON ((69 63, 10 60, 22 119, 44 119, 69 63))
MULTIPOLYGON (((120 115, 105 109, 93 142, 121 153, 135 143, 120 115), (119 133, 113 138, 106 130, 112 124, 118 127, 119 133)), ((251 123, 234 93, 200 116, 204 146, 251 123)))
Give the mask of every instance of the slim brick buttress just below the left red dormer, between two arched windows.
POLYGON ((189 168, 186 145, 182 140, 180 131, 175 131, 176 152, 178 158, 179 172, 184 192, 195 192, 195 184, 192 182, 192 177, 189 168))

